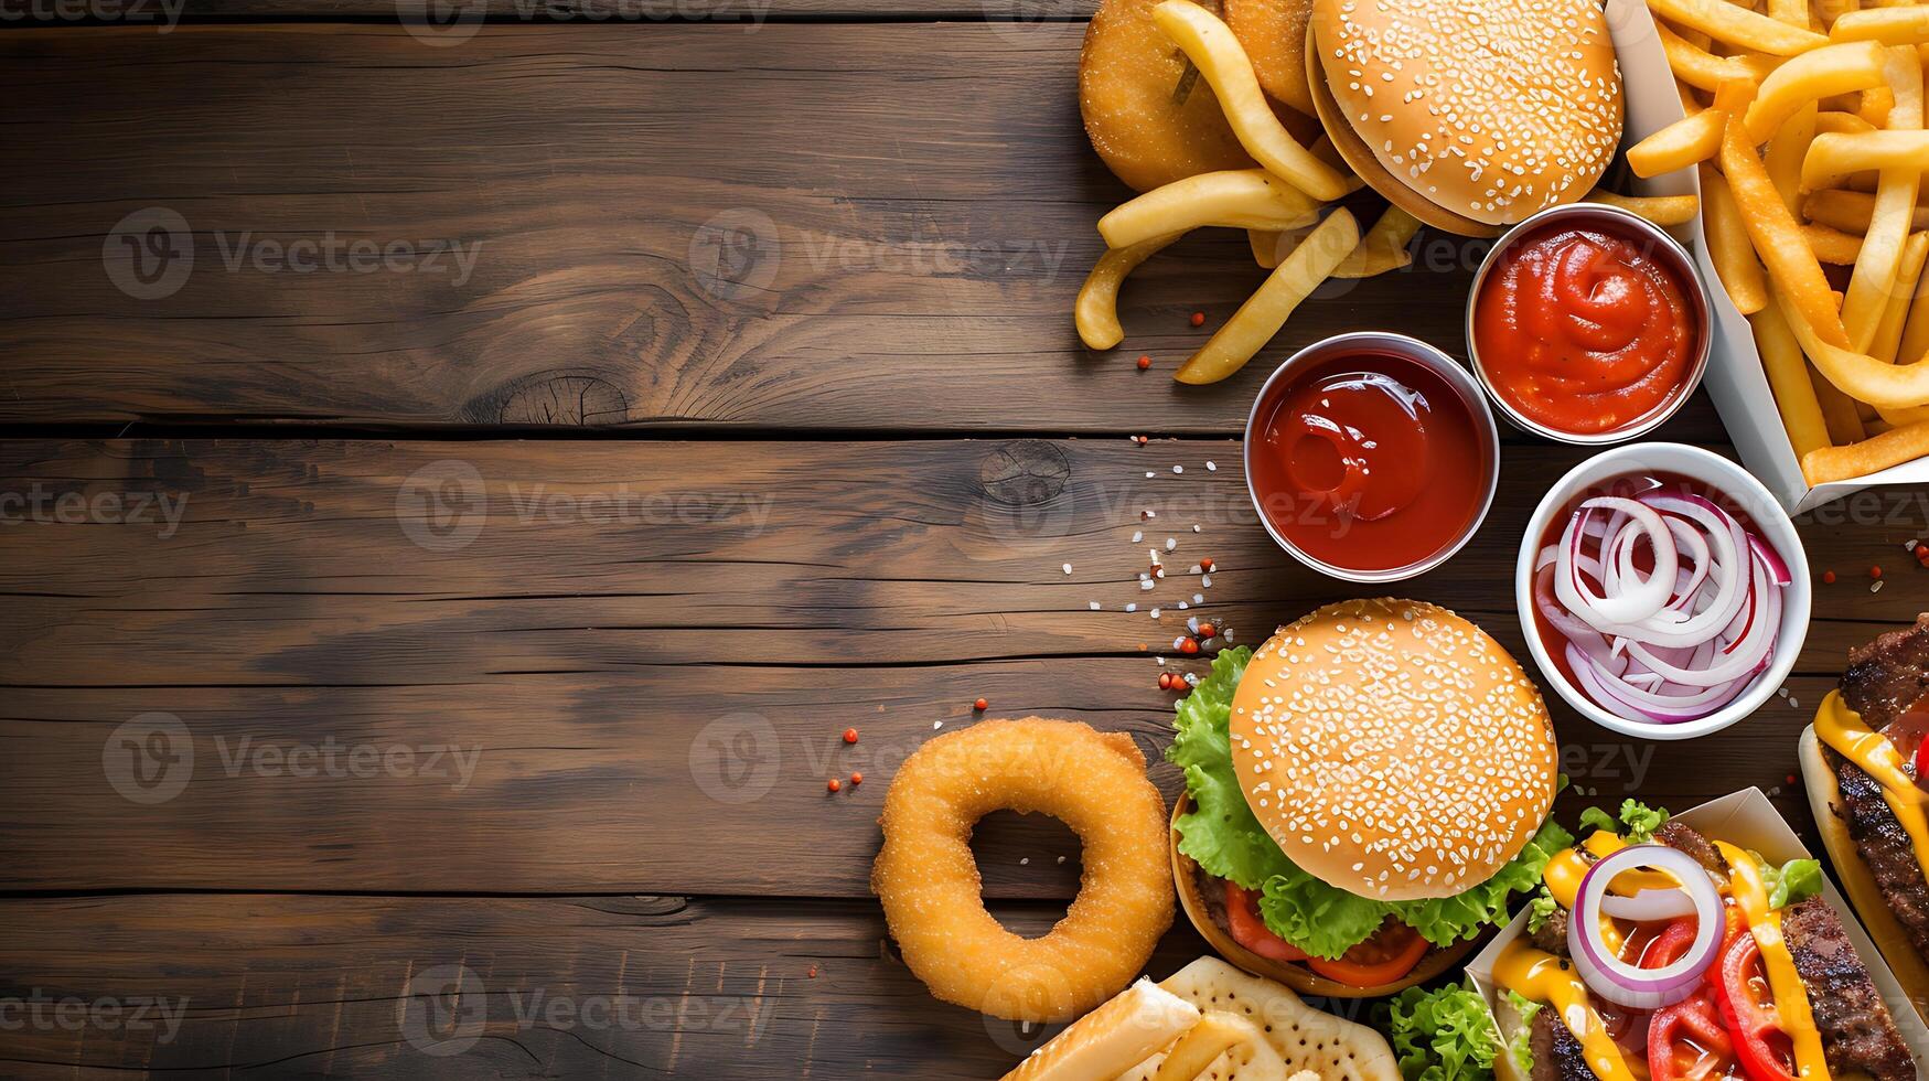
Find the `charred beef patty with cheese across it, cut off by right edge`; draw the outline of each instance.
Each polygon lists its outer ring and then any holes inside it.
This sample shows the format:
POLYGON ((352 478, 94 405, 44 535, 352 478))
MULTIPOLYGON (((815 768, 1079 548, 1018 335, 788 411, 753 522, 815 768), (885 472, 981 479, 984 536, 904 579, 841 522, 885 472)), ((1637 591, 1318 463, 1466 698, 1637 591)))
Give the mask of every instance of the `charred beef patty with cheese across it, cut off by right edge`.
MULTIPOLYGON (((1929 693, 1929 616, 1906 631, 1890 631, 1848 654, 1842 674, 1842 703, 1861 714, 1863 724, 1881 732, 1929 693)), ((1929 959, 1929 882, 1923 880, 1915 844, 1896 813, 1883 799, 1861 766, 1823 749, 1823 759, 1842 790, 1836 809, 1861 863, 1881 890, 1888 911, 1908 934, 1915 952, 1929 959)))

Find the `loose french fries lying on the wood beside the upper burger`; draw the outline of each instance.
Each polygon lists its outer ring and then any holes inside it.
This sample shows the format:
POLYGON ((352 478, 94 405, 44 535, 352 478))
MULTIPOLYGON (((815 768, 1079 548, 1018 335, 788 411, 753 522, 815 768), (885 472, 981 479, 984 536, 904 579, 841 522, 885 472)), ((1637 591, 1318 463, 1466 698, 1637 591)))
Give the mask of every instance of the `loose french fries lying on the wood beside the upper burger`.
MULTIPOLYGON (((1327 278, 1372 278, 1408 266, 1420 222, 1387 207, 1360 236, 1352 212, 1333 203, 1364 181, 1325 135, 1306 147, 1287 131, 1233 29, 1192 0, 1165 0, 1154 19, 1206 77, 1233 133, 1260 168, 1190 176, 1100 218, 1107 251, 1078 290, 1073 320, 1088 347, 1111 349, 1125 340, 1119 286, 1140 263, 1198 228, 1246 230, 1254 259, 1271 274, 1173 376, 1192 384, 1219 382, 1265 347, 1327 278)), ((1319 71, 1312 75, 1321 77, 1319 71)), ((1665 226, 1688 222, 1699 210, 1694 197, 1682 195, 1634 199, 1593 191, 1588 199, 1665 226)))

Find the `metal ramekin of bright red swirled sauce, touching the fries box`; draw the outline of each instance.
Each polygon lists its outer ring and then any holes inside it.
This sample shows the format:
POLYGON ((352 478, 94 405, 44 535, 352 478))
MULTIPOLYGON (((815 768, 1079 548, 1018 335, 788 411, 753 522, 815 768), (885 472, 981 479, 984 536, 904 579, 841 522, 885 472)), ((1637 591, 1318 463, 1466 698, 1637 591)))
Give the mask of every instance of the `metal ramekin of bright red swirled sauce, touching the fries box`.
POLYGON ((1468 290, 1474 374, 1518 429, 1578 446, 1651 432, 1707 371, 1707 288, 1688 251, 1618 207, 1551 207, 1503 236, 1468 290))

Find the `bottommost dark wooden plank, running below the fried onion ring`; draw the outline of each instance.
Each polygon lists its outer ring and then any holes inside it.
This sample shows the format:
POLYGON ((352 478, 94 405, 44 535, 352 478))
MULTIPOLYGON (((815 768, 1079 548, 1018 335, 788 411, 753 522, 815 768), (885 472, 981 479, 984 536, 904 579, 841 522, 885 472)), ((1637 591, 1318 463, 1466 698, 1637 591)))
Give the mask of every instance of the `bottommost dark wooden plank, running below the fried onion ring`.
MULTIPOLYGON (((997 915, 1042 934, 1063 909, 997 915)), ((982 1081, 1057 1031, 932 1000, 864 901, 125 896, 0 917, 0 996, 25 1000, 8 1077, 982 1081), (60 1021, 64 1000, 122 1013, 60 1021)), ((1148 969, 1202 952, 1179 929, 1148 969)))

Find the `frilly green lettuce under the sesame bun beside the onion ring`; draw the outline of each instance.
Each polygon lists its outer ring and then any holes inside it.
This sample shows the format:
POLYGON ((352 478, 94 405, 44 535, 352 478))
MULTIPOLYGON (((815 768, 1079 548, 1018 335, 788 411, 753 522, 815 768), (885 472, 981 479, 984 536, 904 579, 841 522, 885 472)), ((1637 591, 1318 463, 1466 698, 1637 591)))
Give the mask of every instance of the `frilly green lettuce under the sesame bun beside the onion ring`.
POLYGON ((1339 957, 1366 942, 1389 915, 1435 946, 1474 938, 1505 919, 1510 894, 1537 886, 1547 861, 1574 844, 1549 818, 1493 878, 1453 898, 1389 903, 1327 886, 1279 851, 1252 817, 1233 770, 1233 691, 1248 660, 1248 647, 1221 651, 1213 658, 1211 676, 1177 707, 1177 737, 1165 757, 1186 772, 1186 791, 1192 793, 1192 811, 1179 818, 1179 851, 1208 874, 1258 890, 1265 927, 1292 946, 1318 957, 1339 957))

